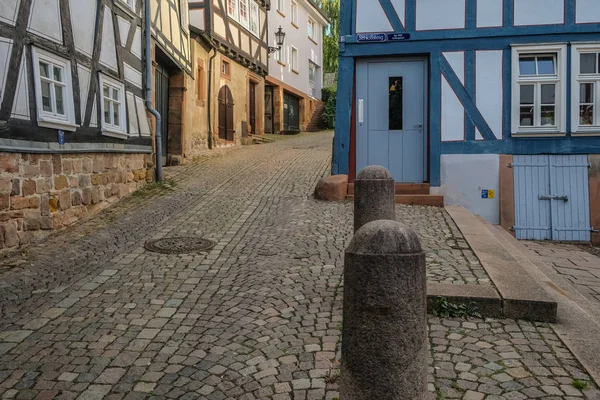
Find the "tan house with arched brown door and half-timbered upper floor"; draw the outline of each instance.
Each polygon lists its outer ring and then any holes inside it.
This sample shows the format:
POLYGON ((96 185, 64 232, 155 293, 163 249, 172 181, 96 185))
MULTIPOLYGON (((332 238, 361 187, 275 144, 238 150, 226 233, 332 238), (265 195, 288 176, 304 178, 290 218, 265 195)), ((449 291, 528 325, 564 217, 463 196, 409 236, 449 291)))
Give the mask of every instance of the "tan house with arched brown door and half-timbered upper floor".
POLYGON ((190 0, 195 80, 189 147, 239 144, 264 132, 268 0, 190 0))

